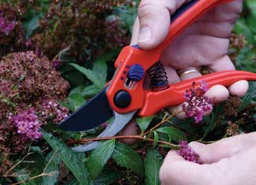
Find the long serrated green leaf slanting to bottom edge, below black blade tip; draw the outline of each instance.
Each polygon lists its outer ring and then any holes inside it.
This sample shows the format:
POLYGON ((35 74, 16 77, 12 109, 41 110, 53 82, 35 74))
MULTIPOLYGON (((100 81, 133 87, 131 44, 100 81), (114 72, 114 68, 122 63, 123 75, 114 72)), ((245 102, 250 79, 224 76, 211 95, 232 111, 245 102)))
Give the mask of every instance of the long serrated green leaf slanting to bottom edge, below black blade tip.
POLYGON ((54 137, 52 133, 43 131, 43 137, 48 144, 50 144, 52 149, 58 152, 58 156, 61 158, 64 164, 66 164, 66 167, 72 171, 80 184, 92 184, 88 168, 85 166, 84 162, 81 162, 82 158, 84 157, 83 153, 75 153, 68 148, 63 141, 54 137))

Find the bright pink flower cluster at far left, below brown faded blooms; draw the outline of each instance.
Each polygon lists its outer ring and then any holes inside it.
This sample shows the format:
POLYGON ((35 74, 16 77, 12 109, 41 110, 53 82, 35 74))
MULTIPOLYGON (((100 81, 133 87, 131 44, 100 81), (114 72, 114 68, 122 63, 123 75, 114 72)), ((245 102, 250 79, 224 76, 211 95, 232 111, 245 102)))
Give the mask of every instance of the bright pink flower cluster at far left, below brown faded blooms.
POLYGON ((28 108, 28 110, 18 110, 17 115, 9 116, 11 122, 17 128, 17 133, 26 135, 26 137, 35 140, 39 139, 42 133, 39 131, 41 129, 41 122, 38 120, 37 115, 33 108, 28 108))

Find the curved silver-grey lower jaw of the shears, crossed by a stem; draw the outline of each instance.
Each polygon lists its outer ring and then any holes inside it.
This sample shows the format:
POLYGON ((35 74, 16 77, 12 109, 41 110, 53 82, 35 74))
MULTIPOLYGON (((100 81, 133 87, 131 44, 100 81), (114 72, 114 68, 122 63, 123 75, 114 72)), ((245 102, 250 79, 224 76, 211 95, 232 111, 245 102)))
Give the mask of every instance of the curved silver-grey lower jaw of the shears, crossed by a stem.
MULTIPOLYGON (((126 126, 126 124, 128 124, 128 122, 132 119, 133 115, 135 115, 136 112, 137 112, 137 110, 130 112, 130 113, 121 114, 121 113, 117 113, 117 112, 113 111, 115 118, 107 126, 107 128, 100 135, 98 135, 97 138, 112 137, 112 136, 116 135, 117 133, 119 133, 119 131, 121 131, 124 128, 124 126, 126 126)), ((76 152, 90 151, 90 150, 94 150, 95 148, 97 148, 99 146, 99 144, 100 144, 100 142, 98 142, 98 141, 89 142, 88 144, 76 146, 76 147, 72 148, 72 150, 74 150, 76 152)))

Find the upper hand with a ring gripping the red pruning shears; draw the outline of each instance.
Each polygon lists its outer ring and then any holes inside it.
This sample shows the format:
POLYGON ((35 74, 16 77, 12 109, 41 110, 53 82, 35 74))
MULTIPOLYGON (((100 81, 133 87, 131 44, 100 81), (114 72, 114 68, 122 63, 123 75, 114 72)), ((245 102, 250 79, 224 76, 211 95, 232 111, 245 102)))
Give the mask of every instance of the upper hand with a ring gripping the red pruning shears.
MULTIPOLYGON (((170 29, 170 14, 184 3, 185 0, 142 0, 139 5, 139 18, 133 27, 131 44, 138 43, 145 50, 161 44, 170 29)), ((231 30, 241 10, 242 0, 235 0, 208 11, 164 50, 161 63, 170 84, 201 76, 195 70, 200 71, 202 66, 206 66, 210 72, 235 70, 227 54, 231 30), (178 75, 179 72, 191 69, 194 72, 178 75)), ((243 96, 247 91, 248 82, 239 81, 229 88, 213 86, 206 95, 212 98, 213 103, 219 103, 225 101, 230 94, 243 96)), ((179 112, 182 106, 169 110, 172 113, 175 110, 179 112)), ((177 117, 186 118, 184 112, 177 117)))

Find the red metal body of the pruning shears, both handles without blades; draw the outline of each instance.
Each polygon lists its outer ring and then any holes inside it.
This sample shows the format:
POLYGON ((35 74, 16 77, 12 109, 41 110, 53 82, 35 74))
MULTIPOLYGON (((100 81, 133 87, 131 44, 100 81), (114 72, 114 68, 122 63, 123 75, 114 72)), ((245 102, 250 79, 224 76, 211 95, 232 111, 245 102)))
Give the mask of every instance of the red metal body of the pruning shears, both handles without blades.
POLYGON ((118 113, 128 113, 133 110, 140 110, 139 115, 141 116, 153 115, 162 110, 162 108, 184 102, 184 92, 192 86, 193 82, 196 82, 198 85, 201 81, 205 81, 210 88, 216 84, 230 86, 231 84, 241 80, 256 81, 255 73, 224 71, 204 75, 202 77, 190 79, 177 84, 170 84, 168 89, 160 92, 144 90, 143 80, 138 81, 133 88, 128 88, 125 85, 128 70, 133 64, 140 64, 144 70, 147 71, 151 66, 153 66, 153 64, 159 61, 161 52, 164 48, 166 48, 168 44, 172 43, 172 41, 181 34, 184 29, 199 19, 199 17, 201 17, 201 15, 210 8, 230 1, 231 0, 198 0, 195 5, 190 7, 186 12, 182 13, 182 15, 172 22, 168 37, 166 37, 165 41, 154 50, 145 51, 135 48, 134 46, 127 46, 123 48, 121 54, 117 58, 117 61, 115 61, 115 68, 117 68, 117 71, 106 91, 108 102, 112 106, 113 110, 118 113), (115 94, 120 90, 125 90, 130 93, 132 97, 130 105, 126 108, 119 108, 115 106, 113 101, 115 94))

